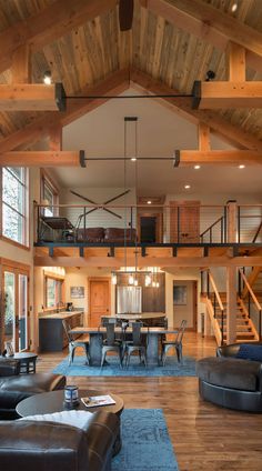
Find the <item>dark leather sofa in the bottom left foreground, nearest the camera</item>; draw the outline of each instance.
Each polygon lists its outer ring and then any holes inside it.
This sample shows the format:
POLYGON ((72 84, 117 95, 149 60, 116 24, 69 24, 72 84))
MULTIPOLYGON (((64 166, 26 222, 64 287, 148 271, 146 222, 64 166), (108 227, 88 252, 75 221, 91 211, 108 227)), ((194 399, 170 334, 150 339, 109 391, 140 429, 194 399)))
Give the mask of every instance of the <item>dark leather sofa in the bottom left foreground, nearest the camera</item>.
POLYGON ((0 422, 1 471, 110 471, 119 418, 93 413, 85 430, 58 422, 0 422))

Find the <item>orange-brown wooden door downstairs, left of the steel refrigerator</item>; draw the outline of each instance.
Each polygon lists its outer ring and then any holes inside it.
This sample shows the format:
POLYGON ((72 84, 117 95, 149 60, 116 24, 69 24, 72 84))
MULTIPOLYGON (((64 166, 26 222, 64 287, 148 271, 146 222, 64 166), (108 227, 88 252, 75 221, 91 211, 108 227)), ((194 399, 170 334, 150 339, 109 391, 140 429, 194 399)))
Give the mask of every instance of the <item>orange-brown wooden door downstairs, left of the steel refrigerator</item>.
POLYGON ((89 280, 89 324, 99 327, 101 315, 110 315, 110 279, 91 278, 89 280))

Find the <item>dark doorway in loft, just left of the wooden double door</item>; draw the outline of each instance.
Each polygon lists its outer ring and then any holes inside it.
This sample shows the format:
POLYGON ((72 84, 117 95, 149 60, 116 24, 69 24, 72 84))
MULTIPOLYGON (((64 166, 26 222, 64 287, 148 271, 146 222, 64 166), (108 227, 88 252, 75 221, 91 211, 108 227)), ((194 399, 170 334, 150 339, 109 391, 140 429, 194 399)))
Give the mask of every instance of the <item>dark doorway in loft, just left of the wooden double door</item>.
POLYGON ((162 213, 140 213, 138 229, 141 243, 162 242, 162 213))

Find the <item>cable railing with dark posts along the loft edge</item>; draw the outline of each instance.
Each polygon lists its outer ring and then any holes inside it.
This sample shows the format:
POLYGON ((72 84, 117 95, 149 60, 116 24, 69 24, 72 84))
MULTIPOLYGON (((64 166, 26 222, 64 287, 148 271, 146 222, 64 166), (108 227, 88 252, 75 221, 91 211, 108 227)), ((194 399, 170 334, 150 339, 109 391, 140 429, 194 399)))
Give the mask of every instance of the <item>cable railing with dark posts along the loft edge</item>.
POLYGON ((232 204, 190 202, 158 206, 36 204, 34 224, 34 241, 40 244, 262 244, 262 206, 235 206, 232 212, 232 204), (150 217, 154 221, 155 233, 147 238, 141 228, 143 218, 150 217))

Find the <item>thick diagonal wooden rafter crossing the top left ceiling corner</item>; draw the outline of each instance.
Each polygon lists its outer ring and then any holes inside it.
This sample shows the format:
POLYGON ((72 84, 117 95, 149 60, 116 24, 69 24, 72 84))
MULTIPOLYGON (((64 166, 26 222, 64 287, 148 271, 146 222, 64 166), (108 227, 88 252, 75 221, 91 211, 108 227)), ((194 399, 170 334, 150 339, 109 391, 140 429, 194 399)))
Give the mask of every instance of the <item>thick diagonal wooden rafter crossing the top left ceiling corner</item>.
POLYGON ((117 0, 57 0, 27 21, 16 22, 0 33, 0 72, 11 67, 20 46, 29 43, 36 52, 115 4, 117 0))

